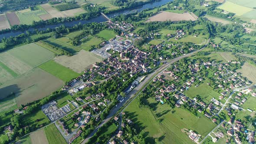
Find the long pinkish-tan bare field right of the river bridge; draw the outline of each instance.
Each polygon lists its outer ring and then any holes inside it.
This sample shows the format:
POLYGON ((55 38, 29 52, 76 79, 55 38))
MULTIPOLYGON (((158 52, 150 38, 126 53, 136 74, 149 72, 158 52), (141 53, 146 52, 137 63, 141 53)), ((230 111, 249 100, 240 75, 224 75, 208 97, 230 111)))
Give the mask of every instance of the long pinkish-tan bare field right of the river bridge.
POLYGON ((171 13, 166 11, 161 11, 158 14, 151 16, 147 22, 154 22, 154 21, 180 21, 180 20, 196 20, 190 13, 171 13))

